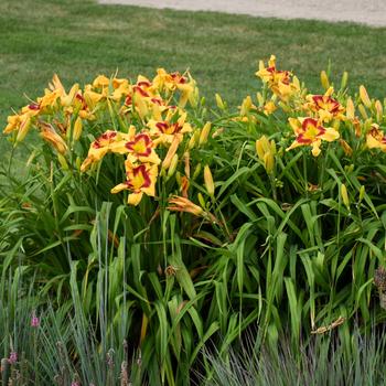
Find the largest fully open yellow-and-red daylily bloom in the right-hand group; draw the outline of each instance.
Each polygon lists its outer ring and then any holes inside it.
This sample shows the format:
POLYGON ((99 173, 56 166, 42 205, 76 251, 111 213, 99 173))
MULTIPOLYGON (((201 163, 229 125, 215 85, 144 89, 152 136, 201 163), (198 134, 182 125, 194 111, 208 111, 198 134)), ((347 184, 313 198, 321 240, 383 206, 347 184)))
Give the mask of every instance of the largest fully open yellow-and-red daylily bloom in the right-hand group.
POLYGON ((340 137, 335 129, 323 127, 313 118, 289 118, 288 120, 294 131, 296 139, 286 149, 287 151, 300 146, 311 146, 312 156, 318 157, 321 152, 322 140, 332 142, 340 137))

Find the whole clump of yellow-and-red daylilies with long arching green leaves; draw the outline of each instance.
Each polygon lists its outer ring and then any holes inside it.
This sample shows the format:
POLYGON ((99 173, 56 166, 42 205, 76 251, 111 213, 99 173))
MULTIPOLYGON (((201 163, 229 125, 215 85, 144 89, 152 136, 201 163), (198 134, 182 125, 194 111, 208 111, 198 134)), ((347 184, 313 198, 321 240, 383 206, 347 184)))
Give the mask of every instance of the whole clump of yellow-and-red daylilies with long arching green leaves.
POLYGON ((347 73, 309 90, 275 56, 256 75, 256 97, 232 108, 216 94, 212 110, 189 73, 69 89, 55 75, 8 118, 14 144, 35 131, 45 146, 6 249, 22 246, 44 293, 81 280, 90 320, 112 281, 109 333, 136 342, 150 384, 184 384, 206 342, 226 355, 249 326, 297 346, 385 320, 385 103, 350 95, 347 73))

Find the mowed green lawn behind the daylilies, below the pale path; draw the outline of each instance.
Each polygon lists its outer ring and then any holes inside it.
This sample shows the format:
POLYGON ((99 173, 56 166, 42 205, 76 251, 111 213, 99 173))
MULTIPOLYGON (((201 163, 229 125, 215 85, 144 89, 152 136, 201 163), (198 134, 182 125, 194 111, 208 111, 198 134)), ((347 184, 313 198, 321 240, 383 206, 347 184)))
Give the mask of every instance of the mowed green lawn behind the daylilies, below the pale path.
MULTIPOLYGON (((350 73, 351 88, 365 84, 386 95, 386 29, 350 23, 282 21, 210 12, 179 12, 90 0, 0 0, 0 121, 12 108, 42 95, 54 73, 66 86, 98 74, 135 78, 163 66, 190 68, 202 95, 219 93, 237 106, 255 94, 255 72, 271 53, 313 92, 332 63, 336 83, 350 73)), ((3 136, 2 154, 10 147, 3 136)), ((4 156, 3 156, 4 157, 4 156)))

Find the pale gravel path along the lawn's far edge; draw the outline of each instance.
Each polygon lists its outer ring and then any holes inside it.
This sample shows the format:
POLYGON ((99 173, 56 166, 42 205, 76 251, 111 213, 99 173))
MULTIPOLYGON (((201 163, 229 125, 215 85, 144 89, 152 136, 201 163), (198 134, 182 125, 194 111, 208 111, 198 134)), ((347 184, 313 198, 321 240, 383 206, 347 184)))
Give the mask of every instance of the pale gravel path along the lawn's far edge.
POLYGON ((99 3, 386 26, 386 0, 99 0, 99 3))

